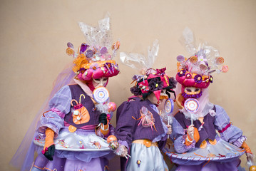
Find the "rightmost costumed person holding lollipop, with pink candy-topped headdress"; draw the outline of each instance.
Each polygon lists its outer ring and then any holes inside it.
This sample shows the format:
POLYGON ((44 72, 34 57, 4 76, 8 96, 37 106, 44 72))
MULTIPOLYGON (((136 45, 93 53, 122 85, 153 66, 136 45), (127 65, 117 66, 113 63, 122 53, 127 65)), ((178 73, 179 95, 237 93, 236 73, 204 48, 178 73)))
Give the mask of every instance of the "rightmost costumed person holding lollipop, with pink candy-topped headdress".
POLYGON ((253 155, 242 130, 230 123, 225 110, 209 101, 208 86, 213 73, 226 73, 224 59, 211 46, 193 46, 193 33, 183 32, 190 58, 178 56, 176 105, 179 112, 173 118, 175 152, 163 151, 178 164, 176 170, 238 170, 239 157, 253 155), (218 134, 216 133, 216 130, 218 134))

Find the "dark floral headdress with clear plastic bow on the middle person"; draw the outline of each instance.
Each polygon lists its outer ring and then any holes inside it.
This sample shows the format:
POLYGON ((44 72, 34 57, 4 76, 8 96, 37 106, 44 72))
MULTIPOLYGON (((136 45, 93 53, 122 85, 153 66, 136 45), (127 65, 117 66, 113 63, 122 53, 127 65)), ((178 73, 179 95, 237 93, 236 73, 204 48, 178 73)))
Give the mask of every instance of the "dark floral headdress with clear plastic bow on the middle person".
POLYGON ((160 92, 163 89, 167 90, 169 96, 169 92, 174 93, 172 89, 175 88, 176 81, 174 78, 170 78, 165 74, 166 68, 156 70, 151 68, 155 58, 158 56, 158 49, 159 44, 156 40, 152 48, 148 48, 148 58, 138 53, 120 53, 121 61, 124 64, 131 68, 141 70, 141 75, 133 76, 135 86, 130 88, 130 91, 136 96, 142 96, 144 99, 150 95, 150 93, 155 93, 156 98, 159 100, 160 92))

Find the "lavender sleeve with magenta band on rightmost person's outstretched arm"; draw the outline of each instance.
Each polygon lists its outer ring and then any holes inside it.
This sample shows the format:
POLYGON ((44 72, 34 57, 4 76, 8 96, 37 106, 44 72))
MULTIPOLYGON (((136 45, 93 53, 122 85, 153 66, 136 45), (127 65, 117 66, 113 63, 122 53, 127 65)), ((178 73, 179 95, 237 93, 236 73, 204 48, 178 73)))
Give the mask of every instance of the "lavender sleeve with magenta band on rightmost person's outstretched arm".
POLYGON ((242 130, 230 123, 230 118, 222 107, 215 105, 215 108, 216 115, 214 125, 216 130, 220 133, 220 138, 233 143, 237 147, 241 147, 242 142, 246 140, 245 136, 242 136, 242 130))

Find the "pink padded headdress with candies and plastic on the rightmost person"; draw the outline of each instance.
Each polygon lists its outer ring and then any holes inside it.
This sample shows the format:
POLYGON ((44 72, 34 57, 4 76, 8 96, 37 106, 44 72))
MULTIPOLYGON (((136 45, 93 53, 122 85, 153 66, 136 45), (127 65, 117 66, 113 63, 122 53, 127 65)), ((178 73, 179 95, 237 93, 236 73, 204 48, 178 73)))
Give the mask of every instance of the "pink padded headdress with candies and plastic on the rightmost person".
POLYGON ((193 33, 189 28, 183 31, 183 38, 191 56, 188 59, 184 56, 177 56, 176 80, 183 87, 208 88, 210 83, 213 83, 213 73, 228 71, 228 67, 223 65, 224 58, 212 46, 203 44, 195 48, 193 33))

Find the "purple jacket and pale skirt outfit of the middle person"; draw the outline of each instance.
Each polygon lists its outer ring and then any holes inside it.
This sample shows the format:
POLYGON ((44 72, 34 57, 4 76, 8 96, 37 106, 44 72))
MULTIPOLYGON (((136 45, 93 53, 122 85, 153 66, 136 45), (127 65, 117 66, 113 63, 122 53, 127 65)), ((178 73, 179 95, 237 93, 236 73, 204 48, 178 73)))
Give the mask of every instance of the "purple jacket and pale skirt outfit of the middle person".
POLYGON ((168 170, 160 150, 165 145, 167 127, 162 122, 158 109, 149 100, 134 98, 122 103, 117 110, 116 137, 128 147, 131 158, 121 157, 121 170, 168 170), (145 107, 152 113, 154 127, 143 126, 140 110, 145 107), (158 142, 158 147, 146 147, 134 140, 158 142))

